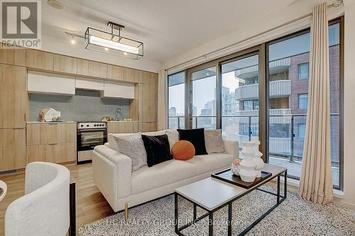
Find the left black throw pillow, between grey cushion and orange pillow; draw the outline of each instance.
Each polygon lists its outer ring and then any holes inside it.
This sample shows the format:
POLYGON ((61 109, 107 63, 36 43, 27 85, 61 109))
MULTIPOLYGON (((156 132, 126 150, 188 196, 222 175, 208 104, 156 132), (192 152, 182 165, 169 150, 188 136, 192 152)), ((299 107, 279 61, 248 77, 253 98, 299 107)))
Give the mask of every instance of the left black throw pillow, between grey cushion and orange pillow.
POLYGON ((148 167, 173 159, 168 135, 142 135, 142 140, 147 152, 148 167))

